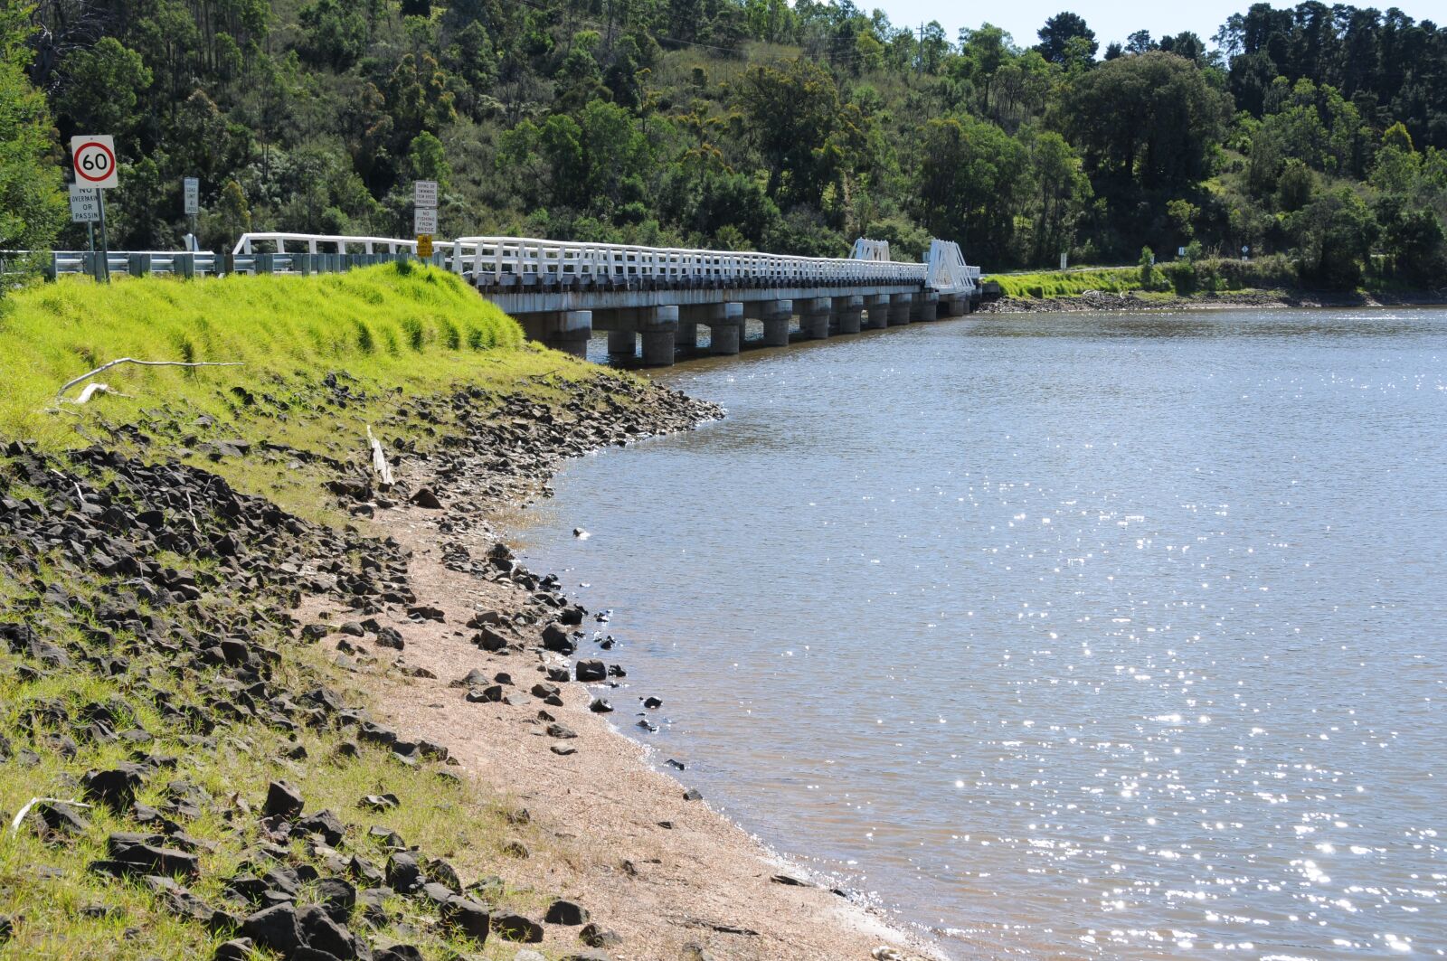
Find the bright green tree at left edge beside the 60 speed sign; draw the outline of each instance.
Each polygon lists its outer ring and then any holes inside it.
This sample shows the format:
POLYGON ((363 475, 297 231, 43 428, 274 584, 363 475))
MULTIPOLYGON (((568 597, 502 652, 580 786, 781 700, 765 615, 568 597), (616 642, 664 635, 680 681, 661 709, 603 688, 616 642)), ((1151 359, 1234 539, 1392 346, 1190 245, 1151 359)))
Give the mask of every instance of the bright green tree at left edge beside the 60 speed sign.
POLYGON ((0 7, 0 250, 49 249, 65 216, 51 116, 25 75, 32 59, 27 13, 0 7))

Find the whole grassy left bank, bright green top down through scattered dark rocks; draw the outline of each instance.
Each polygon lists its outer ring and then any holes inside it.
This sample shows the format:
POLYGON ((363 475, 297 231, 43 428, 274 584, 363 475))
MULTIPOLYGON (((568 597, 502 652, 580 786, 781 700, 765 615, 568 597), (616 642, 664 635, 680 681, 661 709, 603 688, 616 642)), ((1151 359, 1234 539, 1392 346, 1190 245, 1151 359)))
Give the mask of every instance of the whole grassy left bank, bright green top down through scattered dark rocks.
MULTIPOLYGON (((518 850, 556 844, 508 797, 479 796, 431 754, 399 757, 343 716, 337 705, 365 709, 368 695, 298 637, 291 611, 308 588, 287 562, 321 557, 353 579, 405 569, 326 491, 339 475, 365 476, 368 426, 389 450, 427 450, 464 430, 450 405, 427 398, 467 388, 488 410, 518 394, 572 397, 570 382, 605 376, 628 378, 524 343, 457 278, 408 265, 324 278, 74 279, 7 297, 0 960, 211 958, 258 907, 239 886, 273 886, 256 881, 273 867, 301 879, 298 912, 324 903, 373 947, 512 958, 517 945, 496 934, 479 945, 418 896, 362 903, 382 881, 347 858, 386 870, 388 832, 418 850, 433 880, 447 877, 433 876, 431 858, 482 879, 460 896, 495 919, 541 916, 567 892, 492 877, 518 850), (123 365, 96 378, 119 394, 56 404, 62 384, 116 357, 242 366, 123 365), (221 454, 232 439, 250 453, 221 454), (82 450, 93 443, 129 460, 82 450), (315 708, 323 689, 334 692, 327 711, 315 708), (140 771, 135 803, 100 803, 90 773, 127 764, 140 771), (275 835, 260 819, 273 780, 300 790, 305 816, 334 812, 344 837, 275 835), (391 797, 373 806, 369 795, 391 797), (49 805, 12 831, 39 797, 88 806, 65 808, 80 825, 49 805), (97 861, 116 857, 114 832, 192 854, 194 868, 174 874, 185 893, 161 877, 98 873, 97 861), (350 881, 356 905, 337 903, 323 883, 333 879, 350 881)), ((247 957, 282 955, 258 947, 247 957)))

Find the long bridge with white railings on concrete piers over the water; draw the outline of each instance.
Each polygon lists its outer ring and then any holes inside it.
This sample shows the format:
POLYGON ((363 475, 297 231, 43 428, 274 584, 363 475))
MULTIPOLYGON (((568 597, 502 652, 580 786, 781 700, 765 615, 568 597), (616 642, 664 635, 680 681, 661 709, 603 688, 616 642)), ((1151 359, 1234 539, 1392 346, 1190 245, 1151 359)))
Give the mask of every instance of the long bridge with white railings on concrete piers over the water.
MULTIPOLYGON (((396 237, 247 233, 230 253, 114 252, 107 259, 56 252, 51 272, 185 276, 226 274, 327 274, 417 256, 417 242, 396 237)), ((608 333, 608 353, 641 355, 671 365, 699 350, 738 353, 748 324, 763 346, 787 344, 793 318, 800 336, 822 340, 860 330, 959 317, 980 302, 980 268, 965 265, 956 243, 930 242, 925 263, 890 259, 888 243, 861 239, 848 258, 645 247, 532 237, 459 237, 433 245, 431 263, 453 271, 515 317, 531 340, 585 356, 593 331, 608 333)))

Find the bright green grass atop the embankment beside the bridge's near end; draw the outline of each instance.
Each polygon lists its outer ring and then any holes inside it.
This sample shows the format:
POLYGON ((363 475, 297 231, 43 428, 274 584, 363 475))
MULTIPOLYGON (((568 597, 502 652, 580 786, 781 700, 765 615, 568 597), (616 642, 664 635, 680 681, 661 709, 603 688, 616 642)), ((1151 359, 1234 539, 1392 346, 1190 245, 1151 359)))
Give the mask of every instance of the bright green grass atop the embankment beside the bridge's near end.
POLYGON ((308 520, 334 520, 317 498, 323 473, 368 462, 368 426, 383 443, 407 436, 421 452, 440 443, 446 430, 412 423, 402 401, 460 385, 547 399, 563 381, 596 375, 525 343, 517 321, 460 278, 412 263, 313 278, 116 278, 109 287, 62 278, 0 301, 0 439, 51 453, 97 440, 124 450, 136 441, 117 426, 139 424, 139 443, 159 447, 148 456, 178 452, 308 520), (56 405, 62 384, 116 357, 243 366, 122 365, 94 381, 126 397, 56 405), (346 398, 324 385, 328 373, 346 398), (289 454, 211 463, 187 453, 232 437, 317 459, 295 467, 289 454))

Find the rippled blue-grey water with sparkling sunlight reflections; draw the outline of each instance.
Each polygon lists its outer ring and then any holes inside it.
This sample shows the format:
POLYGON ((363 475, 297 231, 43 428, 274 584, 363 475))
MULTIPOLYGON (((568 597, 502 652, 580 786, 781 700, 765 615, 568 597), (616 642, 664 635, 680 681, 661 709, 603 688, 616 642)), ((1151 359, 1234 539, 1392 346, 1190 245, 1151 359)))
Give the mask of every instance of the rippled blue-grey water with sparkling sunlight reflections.
POLYGON ((951 957, 1447 951, 1447 311, 660 379, 728 420, 574 462, 518 535, 745 828, 951 957))

